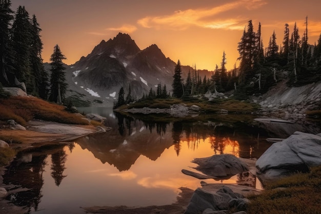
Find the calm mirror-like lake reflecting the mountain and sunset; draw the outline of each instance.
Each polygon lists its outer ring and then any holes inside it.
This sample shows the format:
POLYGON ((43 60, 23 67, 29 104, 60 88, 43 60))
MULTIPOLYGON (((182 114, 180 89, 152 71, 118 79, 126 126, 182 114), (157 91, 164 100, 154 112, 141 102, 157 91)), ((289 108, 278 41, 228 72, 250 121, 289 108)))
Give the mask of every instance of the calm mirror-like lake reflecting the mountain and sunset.
MULTIPOLYGON (((7 168, 4 183, 30 190, 9 198, 30 213, 84 213, 87 206, 166 205, 180 187, 196 189, 200 180, 186 176, 194 158, 229 153, 259 158, 267 138, 294 131, 317 132, 313 123, 264 124, 252 115, 212 115, 196 120, 122 116, 108 108, 79 108, 106 116, 105 133, 73 142, 27 149, 7 168)), ((242 183, 242 176, 208 183, 242 183)), ((254 178, 253 187, 262 188, 254 178)))

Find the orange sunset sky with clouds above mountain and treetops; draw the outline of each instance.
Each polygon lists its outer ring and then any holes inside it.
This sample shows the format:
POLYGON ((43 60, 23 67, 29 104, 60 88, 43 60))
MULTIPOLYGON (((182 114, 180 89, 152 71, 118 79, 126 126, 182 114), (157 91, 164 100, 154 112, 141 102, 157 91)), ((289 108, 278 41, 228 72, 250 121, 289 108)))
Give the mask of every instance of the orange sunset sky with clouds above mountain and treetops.
POLYGON ((264 47, 275 30, 282 44, 284 25, 294 23, 304 33, 308 16, 309 43, 321 33, 319 0, 12 0, 12 10, 25 6, 42 28, 43 59, 49 62, 58 44, 71 65, 102 40, 128 33, 140 49, 156 44, 171 60, 197 69, 220 66, 223 51, 227 68, 236 63, 237 43, 244 27, 262 25, 264 47))

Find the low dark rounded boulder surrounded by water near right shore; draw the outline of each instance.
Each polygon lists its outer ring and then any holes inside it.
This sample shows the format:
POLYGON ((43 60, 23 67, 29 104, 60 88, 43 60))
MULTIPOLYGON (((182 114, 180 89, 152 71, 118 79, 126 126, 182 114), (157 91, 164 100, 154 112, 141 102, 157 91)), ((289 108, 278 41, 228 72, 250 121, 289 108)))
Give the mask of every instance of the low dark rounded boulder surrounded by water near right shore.
POLYGON ((217 154, 208 158, 195 158, 196 170, 220 179, 230 178, 235 174, 248 171, 248 165, 232 154, 217 154))

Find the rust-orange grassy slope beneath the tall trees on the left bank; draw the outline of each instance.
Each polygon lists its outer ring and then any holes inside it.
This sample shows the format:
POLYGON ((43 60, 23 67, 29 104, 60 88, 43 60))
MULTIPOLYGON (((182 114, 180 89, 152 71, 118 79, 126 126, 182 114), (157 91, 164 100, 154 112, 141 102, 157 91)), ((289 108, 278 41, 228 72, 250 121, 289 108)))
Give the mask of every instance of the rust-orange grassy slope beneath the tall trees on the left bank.
POLYGON ((21 125, 26 125, 27 121, 32 119, 67 124, 89 124, 79 114, 65 111, 64 106, 34 97, 11 96, 8 99, 0 99, 0 109, 0 120, 13 119, 21 125))

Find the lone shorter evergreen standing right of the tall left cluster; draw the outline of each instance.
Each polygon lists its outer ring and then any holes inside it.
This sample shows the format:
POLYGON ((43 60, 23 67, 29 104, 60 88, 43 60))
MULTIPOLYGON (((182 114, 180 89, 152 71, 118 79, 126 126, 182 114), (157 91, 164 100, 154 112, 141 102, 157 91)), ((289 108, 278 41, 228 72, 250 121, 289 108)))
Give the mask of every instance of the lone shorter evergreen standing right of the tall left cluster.
POLYGON ((67 58, 63 55, 58 45, 55 45, 50 57, 51 76, 50 76, 50 95, 49 101, 62 103, 65 98, 68 84, 66 83, 66 74, 63 60, 67 58))

